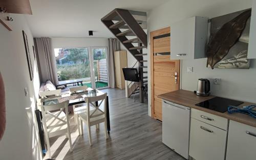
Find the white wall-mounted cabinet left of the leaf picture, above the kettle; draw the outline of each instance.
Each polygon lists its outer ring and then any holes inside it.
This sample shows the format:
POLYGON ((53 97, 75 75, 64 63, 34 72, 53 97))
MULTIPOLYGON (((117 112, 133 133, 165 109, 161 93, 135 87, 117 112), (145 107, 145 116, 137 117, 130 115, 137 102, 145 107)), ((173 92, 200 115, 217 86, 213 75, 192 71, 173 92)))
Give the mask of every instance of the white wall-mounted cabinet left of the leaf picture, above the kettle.
POLYGON ((206 57, 208 18, 195 16, 170 25, 170 59, 206 57))

